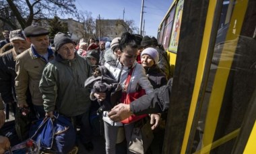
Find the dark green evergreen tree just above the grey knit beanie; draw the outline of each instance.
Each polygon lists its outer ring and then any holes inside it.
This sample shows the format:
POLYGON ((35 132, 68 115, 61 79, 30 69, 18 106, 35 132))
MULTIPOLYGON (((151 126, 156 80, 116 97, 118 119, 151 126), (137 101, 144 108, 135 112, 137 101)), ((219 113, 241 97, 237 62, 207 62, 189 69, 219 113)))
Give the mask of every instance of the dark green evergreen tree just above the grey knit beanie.
POLYGON ((55 37, 55 34, 58 32, 63 32, 67 34, 67 25, 61 23, 61 21, 59 21, 59 17, 57 16, 49 21, 49 26, 49 37, 55 37))

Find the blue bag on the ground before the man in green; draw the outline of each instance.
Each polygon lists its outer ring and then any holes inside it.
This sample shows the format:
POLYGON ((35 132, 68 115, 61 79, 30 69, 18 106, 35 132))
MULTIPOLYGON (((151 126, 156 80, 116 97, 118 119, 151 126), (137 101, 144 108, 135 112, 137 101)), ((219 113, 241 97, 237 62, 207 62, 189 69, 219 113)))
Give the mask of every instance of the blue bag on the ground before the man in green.
POLYGON ((54 114, 54 118, 46 117, 34 125, 37 129, 30 131, 30 139, 46 149, 55 153, 68 153, 75 147, 75 129, 71 119, 61 114, 54 114), (39 125, 38 125, 39 124, 39 125), (36 127, 38 126, 38 127, 36 127))

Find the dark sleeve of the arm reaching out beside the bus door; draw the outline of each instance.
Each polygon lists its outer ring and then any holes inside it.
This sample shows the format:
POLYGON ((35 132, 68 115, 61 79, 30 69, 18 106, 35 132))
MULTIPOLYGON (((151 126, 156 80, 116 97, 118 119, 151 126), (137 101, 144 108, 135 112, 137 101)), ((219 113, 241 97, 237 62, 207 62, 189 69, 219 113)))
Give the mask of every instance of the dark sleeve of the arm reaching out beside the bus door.
POLYGON ((166 86, 156 88, 150 94, 141 96, 131 102, 131 112, 135 115, 164 112, 169 108, 172 79, 168 80, 166 86))

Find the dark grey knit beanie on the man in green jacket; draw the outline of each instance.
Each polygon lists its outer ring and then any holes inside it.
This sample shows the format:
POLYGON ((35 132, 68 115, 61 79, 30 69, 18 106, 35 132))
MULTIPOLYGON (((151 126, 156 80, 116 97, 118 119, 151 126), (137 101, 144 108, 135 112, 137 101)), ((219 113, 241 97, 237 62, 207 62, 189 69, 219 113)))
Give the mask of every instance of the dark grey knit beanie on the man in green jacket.
POLYGON ((54 37, 55 50, 58 51, 64 44, 73 44, 74 42, 65 33, 57 33, 54 37))

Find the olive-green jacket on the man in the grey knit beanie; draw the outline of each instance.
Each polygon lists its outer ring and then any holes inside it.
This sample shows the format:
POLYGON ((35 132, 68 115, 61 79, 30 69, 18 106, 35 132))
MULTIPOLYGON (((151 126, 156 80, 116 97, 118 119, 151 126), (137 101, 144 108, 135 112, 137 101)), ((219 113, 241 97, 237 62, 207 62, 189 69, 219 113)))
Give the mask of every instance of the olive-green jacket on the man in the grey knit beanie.
POLYGON ((40 91, 44 110, 57 110, 67 117, 75 117, 90 109, 90 92, 84 83, 92 75, 90 62, 75 54, 73 60, 63 60, 57 54, 55 60, 44 68, 40 91))

